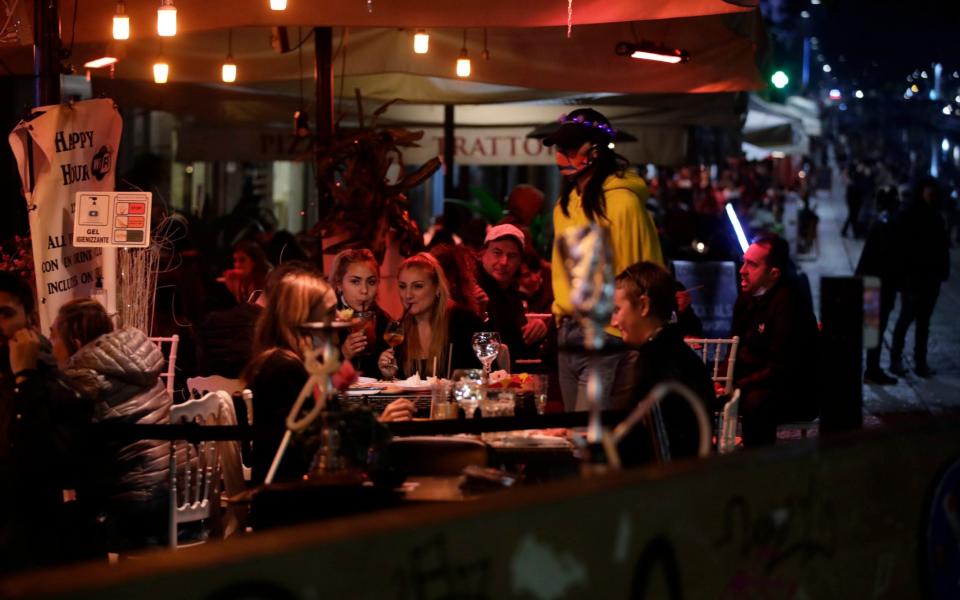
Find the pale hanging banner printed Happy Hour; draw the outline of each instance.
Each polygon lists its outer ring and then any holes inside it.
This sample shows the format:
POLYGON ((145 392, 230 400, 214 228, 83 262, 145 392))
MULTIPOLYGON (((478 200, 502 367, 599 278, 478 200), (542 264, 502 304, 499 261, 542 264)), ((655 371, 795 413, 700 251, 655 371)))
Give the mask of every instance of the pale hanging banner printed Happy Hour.
MULTIPOLYGON (((97 99, 34 109, 10 133, 30 209, 40 327, 48 331, 60 307, 74 298, 105 294, 115 305, 115 250, 76 248, 77 192, 113 191, 123 120, 113 100, 97 99), (98 279, 103 290, 97 289, 98 279)), ((113 310, 111 310, 113 312, 113 310)))

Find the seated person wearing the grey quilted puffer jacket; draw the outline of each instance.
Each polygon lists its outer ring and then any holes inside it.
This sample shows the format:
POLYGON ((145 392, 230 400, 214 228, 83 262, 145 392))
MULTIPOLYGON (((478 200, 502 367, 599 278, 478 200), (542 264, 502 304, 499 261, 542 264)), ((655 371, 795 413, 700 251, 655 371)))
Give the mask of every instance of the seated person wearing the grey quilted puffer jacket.
MULTIPOLYGON (((160 372, 165 358, 139 329, 114 331, 103 306, 77 299, 51 327, 53 355, 69 384, 93 403, 93 422, 170 422, 171 398, 160 372)), ((169 443, 103 440, 91 450, 85 498, 107 550, 165 543, 169 443)))

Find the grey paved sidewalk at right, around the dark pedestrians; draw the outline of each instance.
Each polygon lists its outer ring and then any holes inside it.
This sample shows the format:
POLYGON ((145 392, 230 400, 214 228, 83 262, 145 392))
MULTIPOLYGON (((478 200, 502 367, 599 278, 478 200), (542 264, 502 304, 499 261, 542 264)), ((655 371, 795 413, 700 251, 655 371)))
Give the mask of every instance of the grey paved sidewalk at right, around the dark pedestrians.
MULTIPOLYGON (((834 181, 839 181, 834 177, 834 181)), ((816 260, 800 261, 800 268, 810 278, 814 306, 819 312, 820 278, 830 275, 851 275, 863 248, 862 240, 844 238, 840 228, 846 219, 847 208, 843 201, 842 187, 832 191, 820 190, 816 196, 816 211, 820 217, 818 239, 819 253, 816 260)), ((931 379, 921 379, 913 374, 913 327, 907 334, 904 362, 911 369, 897 385, 863 386, 864 424, 879 426, 904 418, 942 414, 945 411, 960 411, 960 249, 950 254, 951 278, 943 284, 940 298, 930 324, 929 357, 931 368, 936 371, 931 379)), ((890 316, 884 339, 881 365, 889 364, 888 350, 893 325, 899 315, 897 307, 890 316)))

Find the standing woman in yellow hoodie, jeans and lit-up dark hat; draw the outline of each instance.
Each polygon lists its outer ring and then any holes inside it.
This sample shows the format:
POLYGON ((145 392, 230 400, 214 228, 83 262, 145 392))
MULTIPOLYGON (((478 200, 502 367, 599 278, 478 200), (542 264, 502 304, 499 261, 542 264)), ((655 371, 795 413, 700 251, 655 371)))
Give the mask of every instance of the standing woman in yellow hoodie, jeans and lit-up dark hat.
MULTIPOLYGON (((553 211, 553 227, 559 238, 570 227, 598 223, 610 233, 613 272, 621 273, 639 261, 663 265, 660 238, 646 209, 650 193, 643 179, 628 170, 626 159, 613 150, 615 130, 599 112, 583 108, 564 115, 561 126, 544 139, 556 146, 556 161, 564 181, 553 211)), ((636 363, 636 353, 620 339, 620 332, 605 328, 605 351, 588 355, 583 330, 573 319, 570 289, 556 246, 553 250, 553 314, 558 323, 558 371, 566 410, 586 410, 587 375, 596 368, 609 391, 603 408, 627 406, 636 363), (569 349, 565 349, 569 348, 569 349)))

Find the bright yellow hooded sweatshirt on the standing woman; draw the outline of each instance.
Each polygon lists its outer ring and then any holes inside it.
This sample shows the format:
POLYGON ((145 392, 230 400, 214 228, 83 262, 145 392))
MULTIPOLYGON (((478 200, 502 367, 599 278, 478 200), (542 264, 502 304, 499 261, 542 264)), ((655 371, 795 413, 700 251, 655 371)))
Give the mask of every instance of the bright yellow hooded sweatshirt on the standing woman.
MULTIPOLYGON (((650 196, 647 184, 634 171, 624 172, 623 177, 611 175, 603 182, 603 193, 606 200, 606 218, 599 221, 600 225, 610 232, 610 243, 613 250, 613 274, 619 275, 633 263, 647 260, 663 266, 663 253, 660 250, 660 237, 653 223, 653 217, 647 212, 646 202, 650 196)), ((560 203, 553 209, 554 238, 559 239, 563 231, 570 227, 584 227, 590 224, 583 213, 580 203, 580 194, 576 188, 570 192, 570 203, 567 205, 569 216, 563 214, 560 203)), ((553 246, 552 258, 553 276, 553 314, 559 320, 563 316, 573 316, 573 305, 570 303, 570 287, 566 272, 563 268, 563 259, 553 246)), ((607 325, 604 330, 611 335, 620 337, 616 327, 607 325)))

